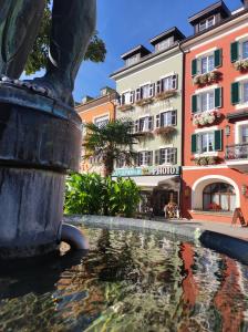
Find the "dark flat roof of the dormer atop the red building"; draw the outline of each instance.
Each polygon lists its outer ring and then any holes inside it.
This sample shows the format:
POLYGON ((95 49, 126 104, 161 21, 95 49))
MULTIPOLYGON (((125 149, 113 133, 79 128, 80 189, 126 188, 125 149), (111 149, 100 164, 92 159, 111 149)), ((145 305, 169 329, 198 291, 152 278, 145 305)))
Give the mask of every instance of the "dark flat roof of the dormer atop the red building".
POLYGON ((189 17, 188 22, 194 25, 198 21, 209 17, 210 14, 214 14, 215 12, 221 12, 223 18, 228 18, 231 14, 226 3, 220 0, 189 17))

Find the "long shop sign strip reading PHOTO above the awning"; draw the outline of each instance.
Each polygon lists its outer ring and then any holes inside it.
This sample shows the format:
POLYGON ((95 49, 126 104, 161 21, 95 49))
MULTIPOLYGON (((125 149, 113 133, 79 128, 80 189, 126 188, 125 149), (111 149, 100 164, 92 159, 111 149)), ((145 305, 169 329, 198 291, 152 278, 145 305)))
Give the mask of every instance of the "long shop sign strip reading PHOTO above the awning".
POLYGON ((131 176, 161 176, 161 175, 180 175, 179 166, 149 166, 149 167, 131 167, 115 168, 113 177, 131 176))

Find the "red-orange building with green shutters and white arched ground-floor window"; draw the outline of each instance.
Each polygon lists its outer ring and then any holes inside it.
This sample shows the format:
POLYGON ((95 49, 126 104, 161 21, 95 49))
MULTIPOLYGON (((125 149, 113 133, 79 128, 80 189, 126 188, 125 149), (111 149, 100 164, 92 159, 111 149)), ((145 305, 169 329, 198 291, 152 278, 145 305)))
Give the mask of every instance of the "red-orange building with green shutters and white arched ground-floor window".
POLYGON ((248 220, 248 1, 223 1, 189 18, 184 41, 183 216, 248 220))

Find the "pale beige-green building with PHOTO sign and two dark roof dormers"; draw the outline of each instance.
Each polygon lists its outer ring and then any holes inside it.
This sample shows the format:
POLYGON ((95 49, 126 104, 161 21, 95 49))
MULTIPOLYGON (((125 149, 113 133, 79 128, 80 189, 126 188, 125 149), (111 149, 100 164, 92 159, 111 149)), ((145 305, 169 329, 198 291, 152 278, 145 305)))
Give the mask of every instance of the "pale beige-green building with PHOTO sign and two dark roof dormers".
POLYGON ((142 187, 142 209, 152 206, 155 215, 169 200, 179 204, 184 38, 177 28, 153 38, 153 52, 143 45, 128 51, 125 66, 111 75, 120 94, 116 118, 132 118, 143 137, 136 165, 120 160, 113 176, 133 177, 142 187))

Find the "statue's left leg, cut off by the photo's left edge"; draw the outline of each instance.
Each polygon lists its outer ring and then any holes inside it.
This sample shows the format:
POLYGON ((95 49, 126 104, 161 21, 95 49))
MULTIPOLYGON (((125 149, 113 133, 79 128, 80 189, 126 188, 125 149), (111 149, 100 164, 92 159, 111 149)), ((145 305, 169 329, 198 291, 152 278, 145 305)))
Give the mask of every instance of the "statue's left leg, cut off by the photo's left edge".
POLYGON ((1 2, 4 12, 3 10, 0 12, 0 72, 11 79, 18 79, 23 72, 38 34, 45 1, 1 0, 1 2))

